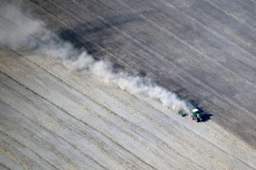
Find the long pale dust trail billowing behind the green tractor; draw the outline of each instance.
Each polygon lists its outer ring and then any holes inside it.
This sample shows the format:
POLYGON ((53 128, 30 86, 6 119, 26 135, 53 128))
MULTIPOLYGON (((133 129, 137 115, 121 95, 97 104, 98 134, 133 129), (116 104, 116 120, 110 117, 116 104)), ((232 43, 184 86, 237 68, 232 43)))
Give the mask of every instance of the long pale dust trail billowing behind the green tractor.
POLYGON ((30 49, 50 55, 62 61, 70 69, 86 70, 133 95, 157 99, 176 113, 190 112, 192 108, 189 102, 178 98, 175 93, 158 86, 149 78, 114 68, 107 59, 95 60, 85 50, 75 49, 71 43, 65 42, 47 30, 42 21, 24 14, 19 5, 7 5, 1 8, 0 15, 0 46, 30 49))

